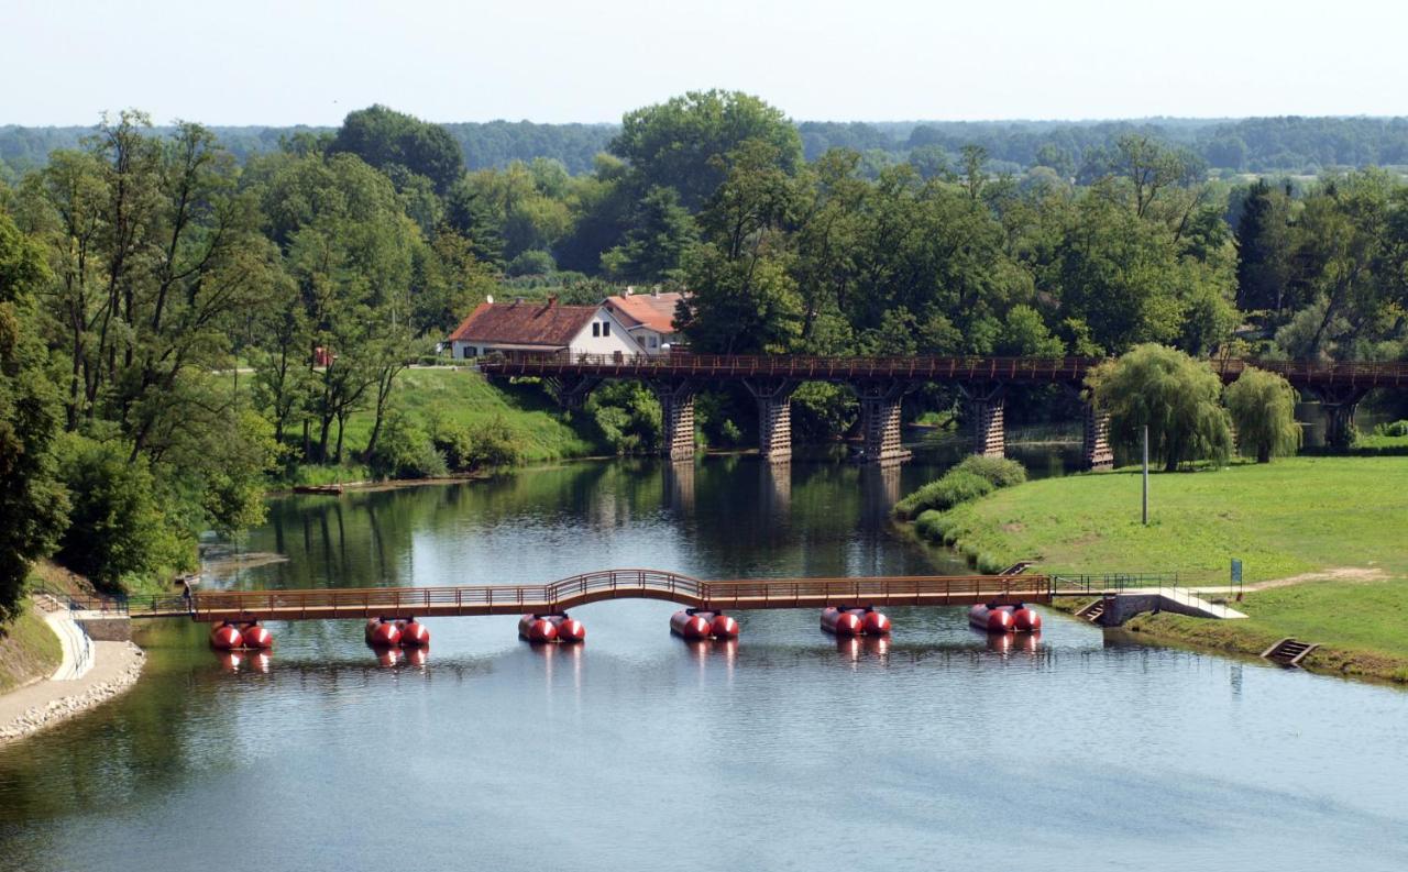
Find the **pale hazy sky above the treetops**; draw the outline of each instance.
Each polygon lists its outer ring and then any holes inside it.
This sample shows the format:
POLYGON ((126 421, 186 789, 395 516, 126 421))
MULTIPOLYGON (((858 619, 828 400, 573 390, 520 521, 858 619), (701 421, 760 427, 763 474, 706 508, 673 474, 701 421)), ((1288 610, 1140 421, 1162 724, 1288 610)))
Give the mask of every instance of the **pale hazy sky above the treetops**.
POLYGON ((0 0, 0 124, 1408 114, 1402 0, 0 0))

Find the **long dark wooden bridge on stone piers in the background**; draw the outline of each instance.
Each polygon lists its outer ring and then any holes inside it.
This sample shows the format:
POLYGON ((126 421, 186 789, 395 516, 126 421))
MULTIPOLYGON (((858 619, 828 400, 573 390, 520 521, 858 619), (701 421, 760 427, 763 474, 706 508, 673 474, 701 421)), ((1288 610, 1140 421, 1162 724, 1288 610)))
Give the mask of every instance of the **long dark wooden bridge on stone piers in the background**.
MULTIPOLYGON (((791 457, 791 394, 804 381, 852 385, 860 401, 863 460, 880 466, 901 463, 900 399, 928 383, 957 385, 969 408, 974 450, 1002 454, 1004 402, 1011 385, 1056 384, 1079 392, 1098 357, 805 357, 717 356, 672 353, 615 357, 601 354, 514 352, 484 359, 486 376, 536 376, 559 402, 579 405, 601 381, 638 378, 646 383, 665 412, 665 454, 694 456, 694 394, 707 385, 741 383, 756 399, 763 457, 791 457)), ((1276 363, 1219 359, 1211 361, 1224 381, 1235 381, 1247 366, 1280 373, 1295 388, 1319 398, 1332 444, 1349 442, 1354 406, 1370 390, 1408 387, 1404 363, 1276 363)), ((1108 419, 1086 404, 1086 466, 1110 466, 1108 419)))

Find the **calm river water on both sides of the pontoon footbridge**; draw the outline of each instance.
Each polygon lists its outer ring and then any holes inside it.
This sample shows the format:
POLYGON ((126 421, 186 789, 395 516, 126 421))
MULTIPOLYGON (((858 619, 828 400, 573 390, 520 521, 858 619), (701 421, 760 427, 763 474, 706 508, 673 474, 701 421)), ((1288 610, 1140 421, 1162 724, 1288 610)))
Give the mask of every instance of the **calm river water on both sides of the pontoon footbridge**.
MULTIPOLYGON (((1059 463, 1056 463, 1059 468, 1059 463)), ((463 487, 276 501, 222 584, 929 572, 904 481, 711 459, 574 464, 463 487)), ((939 568, 943 567, 942 558, 939 568)), ((1107 644, 1048 616, 995 647, 962 610, 838 644, 814 612, 672 637, 673 606, 441 619, 424 667, 356 623, 270 624, 228 672, 163 624, 121 700, 0 750, 4 869, 1404 869, 1408 695, 1107 644)))

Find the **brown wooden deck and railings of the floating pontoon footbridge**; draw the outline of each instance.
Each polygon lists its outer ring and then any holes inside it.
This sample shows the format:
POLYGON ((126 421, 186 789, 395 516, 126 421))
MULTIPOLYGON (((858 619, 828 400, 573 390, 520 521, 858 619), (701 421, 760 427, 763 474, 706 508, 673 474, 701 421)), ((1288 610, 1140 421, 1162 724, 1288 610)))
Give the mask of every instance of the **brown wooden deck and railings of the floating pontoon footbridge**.
MULTIPOLYGON (((435 588, 200 591, 130 598, 128 617, 199 622, 342 620, 473 615, 552 615, 605 599, 660 599, 707 610, 826 606, 963 606, 1050 602, 1050 575, 881 575, 701 581, 659 570, 603 570, 549 584, 435 588)), ((93 603, 80 603, 93 608, 93 603)))

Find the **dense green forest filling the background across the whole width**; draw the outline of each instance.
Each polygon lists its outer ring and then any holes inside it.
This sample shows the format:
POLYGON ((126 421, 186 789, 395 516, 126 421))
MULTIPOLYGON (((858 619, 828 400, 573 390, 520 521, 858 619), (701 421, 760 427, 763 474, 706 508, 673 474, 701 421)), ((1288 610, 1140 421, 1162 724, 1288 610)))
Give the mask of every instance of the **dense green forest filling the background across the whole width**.
MULTIPOLYGON (((700 91, 543 139, 604 142, 584 163, 517 159, 513 125, 466 160, 455 125, 379 105, 238 146, 107 117, 0 184, 0 609, 37 556, 110 589, 190 565, 203 530, 262 518, 272 475, 346 461, 355 413, 383 474, 511 461, 501 428, 398 413, 401 374, 491 293, 683 288, 700 352, 1405 359, 1408 184, 1217 177, 1226 129, 1247 167, 1322 142, 1229 124, 917 125, 877 163, 853 125, 700 91)), ((1398 124, 1363 124, 1356 160, 1398 160, 1398 124)), ((617 432, 650 415, 631 385, 600 402, 617 432)), ((704 426, 736 437, 736 405, 701 402, 704 426)), ((853 426, 843 388, 796 406, 807 437, 853 426)))

